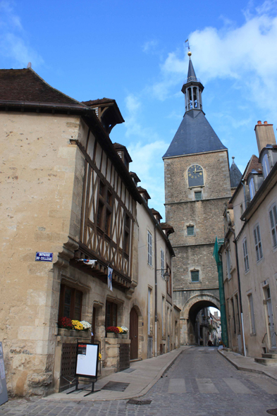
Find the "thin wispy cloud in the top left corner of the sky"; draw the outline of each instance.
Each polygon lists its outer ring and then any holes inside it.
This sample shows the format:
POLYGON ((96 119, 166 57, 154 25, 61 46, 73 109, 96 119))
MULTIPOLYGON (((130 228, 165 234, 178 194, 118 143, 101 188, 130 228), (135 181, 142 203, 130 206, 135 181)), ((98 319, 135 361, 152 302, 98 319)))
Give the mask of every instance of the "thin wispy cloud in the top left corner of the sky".
POLYGON ((32 62, 37 67, 43 63, 42 57, 30 46, 11 1, 0 1, 0 48, 1 56, 13 59, 15 66, 26 68, 32 62))

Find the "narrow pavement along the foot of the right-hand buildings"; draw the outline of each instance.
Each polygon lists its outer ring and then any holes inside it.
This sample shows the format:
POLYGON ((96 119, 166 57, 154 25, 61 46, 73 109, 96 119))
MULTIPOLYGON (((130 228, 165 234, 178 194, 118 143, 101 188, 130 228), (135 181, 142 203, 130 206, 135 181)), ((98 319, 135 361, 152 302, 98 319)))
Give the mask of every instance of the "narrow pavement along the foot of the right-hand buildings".
POLYGON ((253 373, 265 374, 271 379, 277 380, 277 365, 262 365, 254 361, 252 357, 245 357, 228 350, 218 350, 236 369, 253 373))

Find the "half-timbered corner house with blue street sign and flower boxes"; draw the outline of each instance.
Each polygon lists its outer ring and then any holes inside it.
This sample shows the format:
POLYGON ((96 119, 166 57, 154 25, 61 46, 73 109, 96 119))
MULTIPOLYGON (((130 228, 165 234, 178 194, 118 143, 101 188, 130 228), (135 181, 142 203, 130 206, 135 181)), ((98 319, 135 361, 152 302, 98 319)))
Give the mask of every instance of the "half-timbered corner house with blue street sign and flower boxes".
POLYGON ((49 394, 74 381, 77 339, 100 343, 102 375, 128 367, 130 338, 110 338, 106 327, 129 327, 142 199, 109 138, 123 122, 114 100, 77 102, 31 68, 0 78, 7 384, 12 395, 49 394), (35 261, 36 252, 53 261, 35 261), (58 328, 63 317, 92 331, 58 328))

